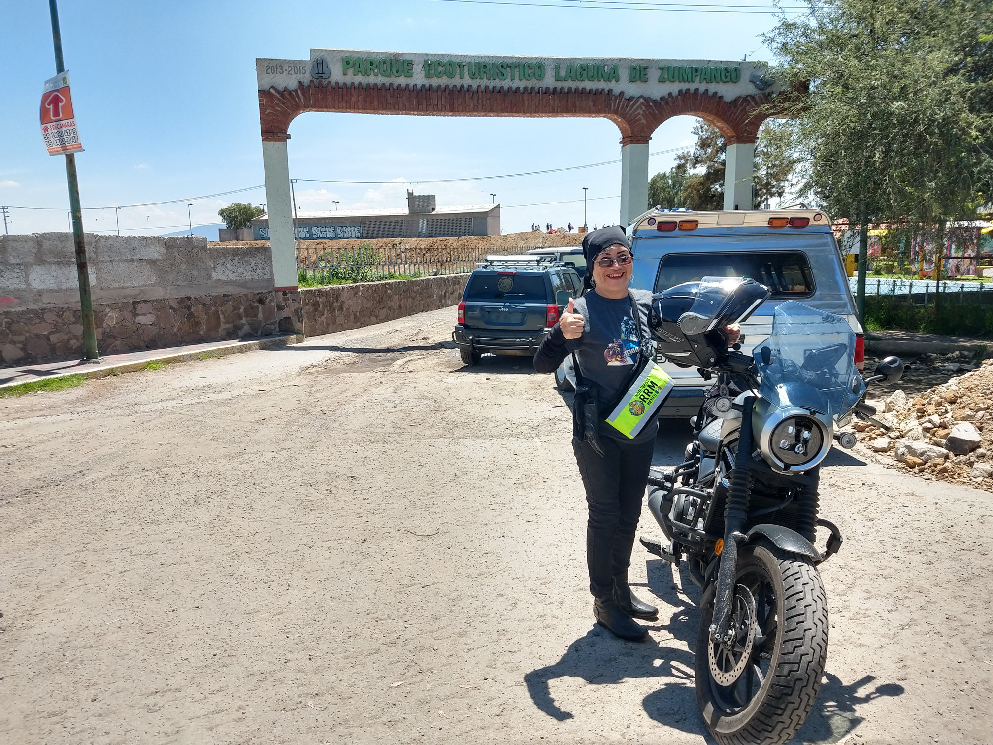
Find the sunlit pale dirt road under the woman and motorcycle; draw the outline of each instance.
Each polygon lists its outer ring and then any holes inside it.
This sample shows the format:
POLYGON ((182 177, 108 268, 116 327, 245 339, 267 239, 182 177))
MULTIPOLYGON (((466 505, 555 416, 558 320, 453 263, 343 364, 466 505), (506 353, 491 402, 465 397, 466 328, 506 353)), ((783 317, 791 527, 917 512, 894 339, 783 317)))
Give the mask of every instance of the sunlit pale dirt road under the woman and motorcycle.
MULTIPOLYGON (((568 410, 454 317, 0 399, 0 742, 706 742, 695 588, 636 546, 651 641, 593 625, 568 410)), ((989 742, 993 498, 830 463, 798 739, 989 742)))

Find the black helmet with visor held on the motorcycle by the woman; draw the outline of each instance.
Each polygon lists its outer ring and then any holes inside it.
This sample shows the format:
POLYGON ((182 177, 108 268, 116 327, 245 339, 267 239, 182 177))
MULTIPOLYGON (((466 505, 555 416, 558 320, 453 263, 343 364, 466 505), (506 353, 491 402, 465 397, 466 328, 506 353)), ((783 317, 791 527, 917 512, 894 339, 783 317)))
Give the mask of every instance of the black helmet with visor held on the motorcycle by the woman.
POLYGON ((712 368, 724 356, 724 327, 744 321, 771 295, 754 279, 704 277, 652 296, 649 325, 658 352, 686 368, 712 368))

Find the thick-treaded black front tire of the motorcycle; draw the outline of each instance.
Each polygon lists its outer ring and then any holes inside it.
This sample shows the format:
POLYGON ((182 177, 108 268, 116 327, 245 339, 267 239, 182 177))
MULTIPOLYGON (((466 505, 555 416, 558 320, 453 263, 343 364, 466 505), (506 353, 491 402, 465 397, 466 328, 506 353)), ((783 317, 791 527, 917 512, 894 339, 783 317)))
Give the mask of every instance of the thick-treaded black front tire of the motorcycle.
MULTIPOLYGON (((716 572, 715 572, 716 575, 716 572)), ((710 625, 714 615, 715 586, 701 598, 700 628, 696 639, 696 698, 704 722, 720 745, 780 745, 803 726, 813 707, 827 661, 827 599, 820 575, 802 556, 782 551, 772 543, 742 547, 738 557, 736 589, 765 575, 765 607, 775 612, 775 631, 769 616, 764 646, 765 679, 740 710, 728 706, 731 687, 717 685, 710 669, 710 625), (723 700, 722 700, 723 697, 723 700)), ((756 593, 753 593, 753 596, 756 593)), ((757 607, 757 606, 753 606, 757 607)), ((741 673, 741 676, 745 675, 741 673)), ((739 676, 739 679, 741 679, 739 676)), ((758 675, 753 677, 758 680, 758 675)))

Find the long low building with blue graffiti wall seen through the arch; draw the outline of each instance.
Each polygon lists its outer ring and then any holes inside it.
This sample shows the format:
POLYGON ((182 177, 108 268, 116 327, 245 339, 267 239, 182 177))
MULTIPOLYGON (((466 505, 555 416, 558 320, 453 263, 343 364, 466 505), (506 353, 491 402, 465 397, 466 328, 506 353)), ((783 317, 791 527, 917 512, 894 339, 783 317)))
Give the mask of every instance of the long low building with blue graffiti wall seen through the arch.
MULTIPOLYGON (((269 239, 269 216, 251 222, 255 240, 269 239)), ((499 235, 499 205, 437 207, 433 194, 407 192, 407 209, 298 212, 300 240, 499 235)))

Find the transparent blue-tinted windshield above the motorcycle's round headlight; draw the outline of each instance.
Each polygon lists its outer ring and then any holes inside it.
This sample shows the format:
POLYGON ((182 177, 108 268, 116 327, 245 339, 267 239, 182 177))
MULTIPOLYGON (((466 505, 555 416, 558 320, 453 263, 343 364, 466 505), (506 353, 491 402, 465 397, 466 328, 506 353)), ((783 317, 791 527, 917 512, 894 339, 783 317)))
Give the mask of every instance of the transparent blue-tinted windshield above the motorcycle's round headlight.
POLYGON ((780 408, 844 416, 865 392, 855 367, 855 332, 840 316, 794 300, 777 306, 773 333, 753 352, 759 392, 780 408))

